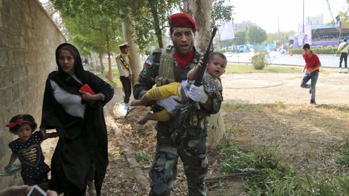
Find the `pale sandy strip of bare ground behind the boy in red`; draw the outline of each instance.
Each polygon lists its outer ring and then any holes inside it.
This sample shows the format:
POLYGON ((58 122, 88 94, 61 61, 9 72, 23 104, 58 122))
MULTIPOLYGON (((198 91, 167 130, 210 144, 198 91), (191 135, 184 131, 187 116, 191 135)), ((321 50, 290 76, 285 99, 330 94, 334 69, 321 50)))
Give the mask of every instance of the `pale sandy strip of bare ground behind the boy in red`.
MULTIPOLYGON (((318 104, 349 104, 349 74, 323 68, 316 84, 318 104)), ((248 73, 222 75, 224 103, 308 104, 309 89, 302 89, 302 73, 248 73)))

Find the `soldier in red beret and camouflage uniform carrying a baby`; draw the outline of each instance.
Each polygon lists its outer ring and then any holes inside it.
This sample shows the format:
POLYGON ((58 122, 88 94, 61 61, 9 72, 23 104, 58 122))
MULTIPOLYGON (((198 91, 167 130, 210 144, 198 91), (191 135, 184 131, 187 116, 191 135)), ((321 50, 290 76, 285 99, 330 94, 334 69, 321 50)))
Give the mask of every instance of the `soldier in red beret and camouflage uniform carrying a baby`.
MULTIPOLYGON (((195 20, 186 13, 170 15, 169 20, 173 46, 156 49, 148 56, 133 89, 136 99, 142 98, 154 84, 162 86, 168 82, 186 80, 188 71, 200 61, 201 54, 193 46, 197 30, 195 20)), ((188 195, 207 195, 204 183, 208 167, 205 117, 220 110, 221 99, 209 98, 203 86, 194 85, 191 85, 188 97, 200 103, 200 110, 193 112, 180 139, 173 140, 171 137, 176 118, 156 123, 156 155, 149 171, 151 178, 149 195, 170 195, 170 188, 177 174, 179 157, 184 164, 188 195)), ((170 113, 176 112, 176 108, 181 105, 176 96, 158 100, 157 103, 170 113)))

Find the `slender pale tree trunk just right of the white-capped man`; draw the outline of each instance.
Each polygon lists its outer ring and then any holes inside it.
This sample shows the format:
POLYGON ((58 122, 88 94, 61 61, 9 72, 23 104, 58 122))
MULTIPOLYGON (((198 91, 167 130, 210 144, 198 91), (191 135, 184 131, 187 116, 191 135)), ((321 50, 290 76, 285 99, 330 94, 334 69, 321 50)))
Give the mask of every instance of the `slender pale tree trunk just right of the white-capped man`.
POLYGON ((131 22, 122 22, 122 33, 124 34, 124 39, 127 41, 128 46, 130 47, 128 50, 128 58, 130 59, 131 70, 133 73, 133 81, 131 84, 131 86, 133 86, 138 80, 138 75, 140 75, 142 65, 140 64, 140 54, 138 54, 139 47, 135 44, 133 39, 133 26, 131 22))

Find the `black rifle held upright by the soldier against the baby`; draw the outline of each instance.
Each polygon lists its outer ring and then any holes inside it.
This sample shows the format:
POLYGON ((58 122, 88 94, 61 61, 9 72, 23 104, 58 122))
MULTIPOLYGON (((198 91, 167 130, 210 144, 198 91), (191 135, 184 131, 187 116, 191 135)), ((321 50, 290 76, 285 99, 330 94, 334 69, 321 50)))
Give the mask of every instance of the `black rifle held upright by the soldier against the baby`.
MULTIPOLYGON (((198 73, 195 75, 195 86, 200 86, 202 83, 202 77, 204 77, 204 73, 206 70, 207 63, 209 62, 209 55, 211 54, 211 45, 214 40, 214 36, 216 36, 217 28, 214 27, 212 33, 211 33, 211 39, 209 40, 209 45, 207 46, 206 52, 204 54, 204 57, 202 59, 202 64, 200 69, 198 70, 198 73)), ((186 104, 185 107, 179 108, 177 110, 176 115, 174 116, 174 130, 170 135, 170 138, 172 141, 176 144, 180 144, 182 142, 181 137, 186 137, 186 126, 189 123, 190 116, 193 112, 193 110, 200 109, 200 106, 198 103, 193 102, 192 100, 189 101, 188 104, 186 104)))

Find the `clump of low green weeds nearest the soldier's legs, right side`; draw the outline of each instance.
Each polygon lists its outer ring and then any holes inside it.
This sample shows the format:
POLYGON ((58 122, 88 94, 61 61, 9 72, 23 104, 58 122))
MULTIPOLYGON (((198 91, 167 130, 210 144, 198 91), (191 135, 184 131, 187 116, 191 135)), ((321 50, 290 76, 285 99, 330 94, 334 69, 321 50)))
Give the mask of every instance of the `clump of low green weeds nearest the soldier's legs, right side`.
POLYGON ((245 185, 250 195, 261 195, 267 188, 297 176, 295 168, 285 161, 278 148, 272 144, 251 153, 242 151, 237 144, 220 146, 220 152, 225 155, 221 170, 225 173, 253 171, 245 185))

